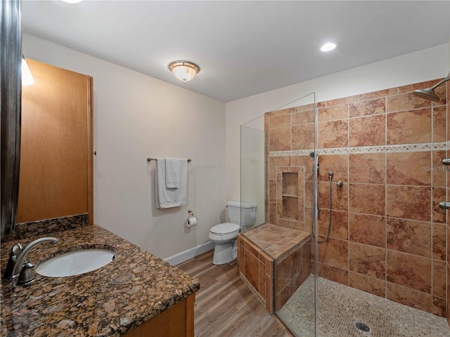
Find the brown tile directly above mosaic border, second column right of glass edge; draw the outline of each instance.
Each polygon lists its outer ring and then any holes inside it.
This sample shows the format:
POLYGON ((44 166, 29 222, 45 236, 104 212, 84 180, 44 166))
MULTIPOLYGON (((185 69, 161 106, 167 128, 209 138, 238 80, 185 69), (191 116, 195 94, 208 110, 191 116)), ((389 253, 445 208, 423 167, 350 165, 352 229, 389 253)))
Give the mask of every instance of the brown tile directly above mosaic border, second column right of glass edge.
POLYGON ((349 146, 385 145, 384 114, 349 119, 349 146))

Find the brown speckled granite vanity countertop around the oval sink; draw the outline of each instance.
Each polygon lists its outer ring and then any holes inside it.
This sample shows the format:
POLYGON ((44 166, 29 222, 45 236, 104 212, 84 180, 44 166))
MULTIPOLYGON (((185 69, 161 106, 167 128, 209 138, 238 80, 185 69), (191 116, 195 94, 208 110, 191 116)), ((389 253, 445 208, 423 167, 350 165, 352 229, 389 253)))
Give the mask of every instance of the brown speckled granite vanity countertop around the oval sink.
MULTIPOLYGON (((114 248, 117 257, 82 275, 35 272, 34 283, 26 287, 2 280, 1 336, 123 336, 200 289, 195 277, 98 225, 45 236, 59 242, 32 249, 28 257, 35 265, 81 248, 114 248)), ((15 243, 1 244, 2 275, 15 243)))

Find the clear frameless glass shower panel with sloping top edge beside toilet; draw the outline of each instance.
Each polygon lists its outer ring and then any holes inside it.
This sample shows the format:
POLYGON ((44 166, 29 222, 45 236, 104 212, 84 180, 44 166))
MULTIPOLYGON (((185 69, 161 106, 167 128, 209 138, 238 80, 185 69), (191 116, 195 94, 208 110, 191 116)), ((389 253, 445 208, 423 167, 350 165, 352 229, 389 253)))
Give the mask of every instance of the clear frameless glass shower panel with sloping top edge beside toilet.
MULTIPOLYGON (((241 201, 257 204, 241 241, 259 251, 253 260, 265 266, 259 279, 246 274, 250 266, 241 268, 242 277, 294 336, 316 334, 316 120, 311 93, 240 127, 241 201)), ((242 264, 252 260, 252 251, 240 253, 248 256, 242 264)))

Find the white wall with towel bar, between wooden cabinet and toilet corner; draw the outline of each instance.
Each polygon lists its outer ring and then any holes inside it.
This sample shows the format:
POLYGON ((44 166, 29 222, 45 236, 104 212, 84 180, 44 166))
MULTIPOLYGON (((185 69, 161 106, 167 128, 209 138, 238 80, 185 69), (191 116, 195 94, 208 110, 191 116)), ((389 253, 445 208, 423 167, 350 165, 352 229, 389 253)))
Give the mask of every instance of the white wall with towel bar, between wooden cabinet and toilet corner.
POLYGON ((28 34, 23 51, 94 77, 94 222, 160 258, 208 242, 225 220, 224 103, 28 34), (186 206, 155 208, 147 157, 192 159, 186 206))

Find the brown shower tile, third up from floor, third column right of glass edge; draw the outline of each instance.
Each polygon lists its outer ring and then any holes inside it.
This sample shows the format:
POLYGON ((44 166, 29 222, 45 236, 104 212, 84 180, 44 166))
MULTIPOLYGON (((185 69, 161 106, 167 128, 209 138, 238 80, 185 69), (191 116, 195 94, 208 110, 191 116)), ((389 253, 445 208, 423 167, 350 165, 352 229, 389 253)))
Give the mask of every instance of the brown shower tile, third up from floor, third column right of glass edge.
POLYGON ((387 249, 431 257, 431 223, 387 218, 387 249))

